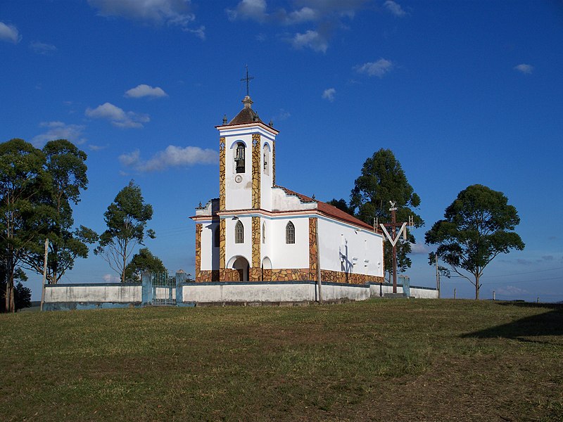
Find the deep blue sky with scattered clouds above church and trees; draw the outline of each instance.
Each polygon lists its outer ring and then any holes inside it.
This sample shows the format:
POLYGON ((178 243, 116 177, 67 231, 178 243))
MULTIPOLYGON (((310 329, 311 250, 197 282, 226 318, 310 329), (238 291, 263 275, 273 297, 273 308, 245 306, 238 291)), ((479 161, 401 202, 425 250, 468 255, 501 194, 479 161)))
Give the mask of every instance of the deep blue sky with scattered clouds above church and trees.
MULTIPOLYGON (((471 184, 517 207, 522 252, 482 298, 563 300, 562 1, 0 1, 0 141, 65 138, 88 154, 75 222, 103 231, 130 179, 153 204, 146 245, 194 272, 201 201, 218 196, 218 136, 242 107, 272 119, 277 183, 349 198, 390 148, 422 198, 411 283, 434 286, 424 232, 471 184)), ((115 277, 93 254, 63 282, 115 277)), ((40 297, 32 276, 33 298, 40 297)), ((471 298, 469 282, 443 296, 471 298)))

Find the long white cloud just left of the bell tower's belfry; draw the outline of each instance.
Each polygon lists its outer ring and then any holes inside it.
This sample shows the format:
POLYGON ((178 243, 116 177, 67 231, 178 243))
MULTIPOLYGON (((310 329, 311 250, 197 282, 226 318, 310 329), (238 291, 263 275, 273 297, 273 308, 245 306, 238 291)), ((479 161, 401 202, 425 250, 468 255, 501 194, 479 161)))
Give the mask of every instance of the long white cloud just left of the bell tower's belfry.
POLYGON ((169 167, 184 167, 196 164, 215 164, 219 161, 217 151, 202 149, 198 146, 184 148, 169 145, 164 151, 159 151, 150 160, 142 160, 139 150, 122 154, 119 157, 122 165, 132 167, 138 172, 162 171, 169 167))

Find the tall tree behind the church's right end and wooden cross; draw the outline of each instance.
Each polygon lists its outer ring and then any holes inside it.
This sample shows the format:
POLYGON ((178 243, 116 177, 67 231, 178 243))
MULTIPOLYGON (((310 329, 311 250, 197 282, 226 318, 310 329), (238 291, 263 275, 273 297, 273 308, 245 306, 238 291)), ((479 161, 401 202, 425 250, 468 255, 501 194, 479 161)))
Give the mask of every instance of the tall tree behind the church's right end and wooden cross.
MULTIPOLYGON (((350 209, 358 210, 356 217, 367 224, 391 222, 389 201, 396 203, 397 221, 408 221, 412 216, 415 227, 422 226, 424 221, 414 211, 420 205, 420 198, 410 186, 400 162, 393 152, 381 148, 371 158, 365 160, 362 174, 355 180, 355 186, 350 195, 350 209)), ((407 256, 411 251, 411 243, 415 243, 415 236, 411 233, 407 241, 402 239, 397 243, 397 269, 405 271, 411 265, 407 256)), ((388 280, 393 271, 393 247, 385 242, 385 269, 388 280)))

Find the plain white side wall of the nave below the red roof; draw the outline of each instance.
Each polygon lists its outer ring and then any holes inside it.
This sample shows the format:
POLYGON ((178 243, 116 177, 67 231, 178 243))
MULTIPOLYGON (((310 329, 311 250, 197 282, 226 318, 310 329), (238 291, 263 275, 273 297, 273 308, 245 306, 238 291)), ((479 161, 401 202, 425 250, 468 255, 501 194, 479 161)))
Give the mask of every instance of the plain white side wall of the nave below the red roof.
POLYGON ((383 238, 365 229, 319 218, 321 269, 383 276, 383 238))

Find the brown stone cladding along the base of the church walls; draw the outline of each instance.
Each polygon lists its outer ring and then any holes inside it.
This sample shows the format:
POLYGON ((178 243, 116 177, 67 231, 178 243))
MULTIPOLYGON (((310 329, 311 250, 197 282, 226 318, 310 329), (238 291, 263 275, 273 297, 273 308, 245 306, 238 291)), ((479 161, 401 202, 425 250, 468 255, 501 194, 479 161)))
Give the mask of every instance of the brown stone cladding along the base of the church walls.
MULTIPOLYGON (((274 268, 274 269, 249 269, 249 281, 317 281, 316 271, 308 268, 274 268)), ((196 283, 217 281, 243 281, 241 270, 212 269, 201 270, 196 274, 196 283)), ((367 274, 353 274, 343 271, 321 270, 321 280, 324 283, 367 284, 384 283, 384 277, 369 276, 367 274)))

